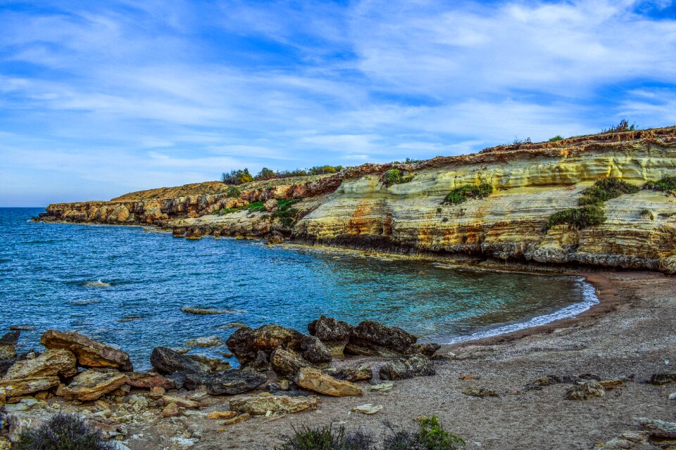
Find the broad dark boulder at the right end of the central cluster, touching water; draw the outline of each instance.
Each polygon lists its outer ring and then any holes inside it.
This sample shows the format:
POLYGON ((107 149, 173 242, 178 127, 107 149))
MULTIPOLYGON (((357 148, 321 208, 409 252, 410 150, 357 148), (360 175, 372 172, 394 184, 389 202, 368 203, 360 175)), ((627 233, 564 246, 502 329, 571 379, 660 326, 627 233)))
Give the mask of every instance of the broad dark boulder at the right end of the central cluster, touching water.
POLYGON ((345 351, 351 354, 392 358, 406 353, 416 338, 401 328, 384 326, 374 321, 363 321, 352 328, 345 351))

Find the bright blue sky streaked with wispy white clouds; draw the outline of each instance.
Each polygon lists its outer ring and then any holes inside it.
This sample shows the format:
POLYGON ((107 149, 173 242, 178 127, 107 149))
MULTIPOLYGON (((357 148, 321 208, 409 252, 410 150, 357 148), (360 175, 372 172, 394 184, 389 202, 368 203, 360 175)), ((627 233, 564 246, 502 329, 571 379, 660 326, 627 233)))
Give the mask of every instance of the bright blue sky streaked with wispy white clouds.
POLYGON ((0 205, 676 123, 674 1, 3 1, 0 205))

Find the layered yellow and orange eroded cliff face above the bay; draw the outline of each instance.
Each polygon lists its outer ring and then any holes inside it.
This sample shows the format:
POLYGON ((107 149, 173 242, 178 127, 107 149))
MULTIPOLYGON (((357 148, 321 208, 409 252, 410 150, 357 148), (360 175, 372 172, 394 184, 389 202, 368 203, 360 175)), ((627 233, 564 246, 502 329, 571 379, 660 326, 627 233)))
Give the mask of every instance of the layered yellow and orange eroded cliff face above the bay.
POLYGON ((554 212, 576 207, 594 181, 614 176, 636 186, 676 175, 676 129, 585 136, 558 143, 500 147, 413 165, 364 165, 319 181, 242 193, 126 203, 50 205, 49 217, 104 223, 151 223, 175 236, 290 235, 305 243, 387 246, 544 264, 653 269, 676 273, 676 198, 641 190, 605 203, 606 221, 544 231, 554 212), (598 139, 596 139, 598 138, 598 139), (413 177, 387 186, 398 167, 413 177), (465 184, 494 193, 459 205, 444 196, 465 184), (268 212, 213 215, 270 198, 296 198, 299 221, 268 212), (672 215, 673 214, 673 215, 672 215))

